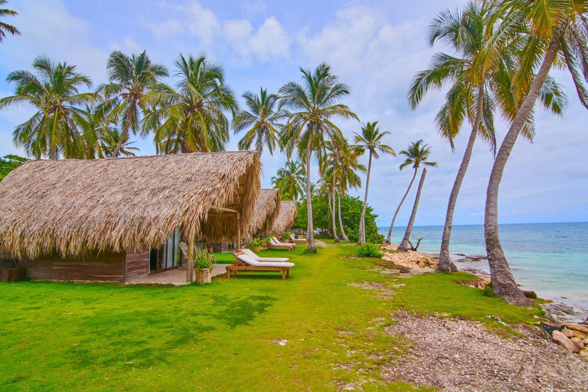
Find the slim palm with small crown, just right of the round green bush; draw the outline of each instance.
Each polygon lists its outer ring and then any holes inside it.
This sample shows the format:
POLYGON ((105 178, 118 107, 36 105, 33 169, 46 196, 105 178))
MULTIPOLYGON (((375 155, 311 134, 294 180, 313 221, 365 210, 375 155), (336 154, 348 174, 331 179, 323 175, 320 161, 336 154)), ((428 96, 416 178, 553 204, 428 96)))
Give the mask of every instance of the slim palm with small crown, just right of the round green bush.
POLYGON ((378 160, 380 158, 380 155, 377 153, 378 151, 382 152, 382 154, 390 154, 396 157, 396 152, 389 145, 382 144, 382 138, 386 135, 391 135, 391 133, 388 131, 380 132, 380 127, 377 126, 377 121, 362 124, 361 135, 357 132, 353 132, 353 134, 355 134, 354 141, 359 148, 360 154, 363 154, 366 150, 369 151, 366 194, 365 198, 363 198, 362 216, 359 218, 358 244, 363 244, 363 242, 366 241, 365 216, 366 206, 368 205, 369 176, 372 172, 372 157, 378 160))

